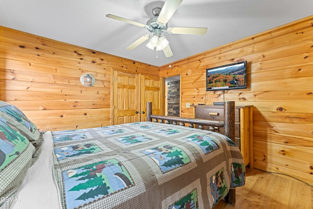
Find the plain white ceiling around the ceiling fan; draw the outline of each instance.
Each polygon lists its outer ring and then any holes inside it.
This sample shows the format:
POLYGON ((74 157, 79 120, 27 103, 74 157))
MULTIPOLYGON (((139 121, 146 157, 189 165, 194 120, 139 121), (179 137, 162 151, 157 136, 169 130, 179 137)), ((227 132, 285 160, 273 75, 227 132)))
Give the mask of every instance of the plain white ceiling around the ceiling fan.
POLYGON ((183 0, 168 27, 207 27, 205 35, 163 32, 174 56, 146 47, 125 48, 145 29, 106 14, 146 24, 165 0, 0 0, 0 25, 162 66, 312 15, 313 0, 183 0))

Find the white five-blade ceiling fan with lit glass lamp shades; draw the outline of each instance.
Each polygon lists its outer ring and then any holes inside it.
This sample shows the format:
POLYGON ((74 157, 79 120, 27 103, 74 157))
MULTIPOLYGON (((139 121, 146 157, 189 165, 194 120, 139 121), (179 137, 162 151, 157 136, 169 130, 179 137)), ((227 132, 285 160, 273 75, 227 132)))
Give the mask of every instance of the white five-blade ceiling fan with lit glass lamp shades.
POLYGON ((163 50, 165 57, 173 56, 172 49, 165 36, 161 35, 167 31, 170 34, 192 34, 192 35, 204 35, 207 32, 206 27, 167 27, 167 22, 175 13, 182 0, 166 0, 163 8, 155 7, 152 10, 152 14, 155 16, 148 20, 147 24, 137 23, 132 20, 121 18, 115 15, 107 14, 106 17, 112 18, 118 21, 134 24, 139 27, 147 28, 150 34, 143 35, 137 39, 133 44, 126 47, 128 50, 132 50, 139 46, 151 36, 151 40, 148 42, 147 47, 152 50, 163 50))

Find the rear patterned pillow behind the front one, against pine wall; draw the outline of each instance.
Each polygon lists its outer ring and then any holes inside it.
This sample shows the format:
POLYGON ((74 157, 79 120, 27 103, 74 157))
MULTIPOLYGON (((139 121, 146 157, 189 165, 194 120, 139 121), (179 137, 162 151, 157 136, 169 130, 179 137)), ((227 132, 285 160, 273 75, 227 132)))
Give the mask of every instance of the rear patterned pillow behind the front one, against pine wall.
POLYGON ((3 101, 0 101, 0 117, 9 121, 11 125, 17 128, 33 144, 36 152, 34 153, 32 164, 35 163, 40 155, 41 145, 44 139, 36 125, 20 109, 3 101))

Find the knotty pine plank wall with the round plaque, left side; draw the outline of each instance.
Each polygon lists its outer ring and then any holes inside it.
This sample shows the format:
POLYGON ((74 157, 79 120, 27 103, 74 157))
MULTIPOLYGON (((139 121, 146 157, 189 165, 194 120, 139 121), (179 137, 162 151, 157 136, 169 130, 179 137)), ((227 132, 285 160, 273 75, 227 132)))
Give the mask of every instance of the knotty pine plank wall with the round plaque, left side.
POLYGON ((0 100, 40 130, 111 124, 112 70, 158 76, 158 67, 0 26, 0 100), (80 76, 95 77, 93 87, 80 76))

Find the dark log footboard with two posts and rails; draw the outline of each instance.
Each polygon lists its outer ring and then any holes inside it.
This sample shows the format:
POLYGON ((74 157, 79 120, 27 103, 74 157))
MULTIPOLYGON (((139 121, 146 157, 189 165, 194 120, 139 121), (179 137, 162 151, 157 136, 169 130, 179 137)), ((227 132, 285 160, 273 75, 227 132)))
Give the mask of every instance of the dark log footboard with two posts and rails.
MULTIPOLYGON (((203 129, 203 125, 210 126, 210 130, 214 131, 214 127, 224 127, 224 135, 229 139, 235 141, 235 102, 224 102, 224 121, 195 119, 188 117, 177 116, 160 116, 152 114, 152 102, 147 102, 147 121, 154 121, 159 123, 171 123, 185 126, 185 123, 189 123, 189 127, 194 128, 194 125, 199 125, 200 129, 203 129)), ((236 189, 229 189, 228 194, 224 198, 228 205, 235 205, 236 189)))

